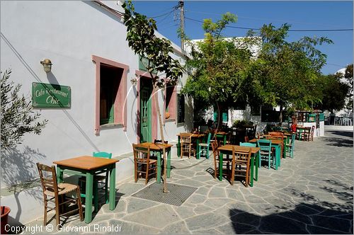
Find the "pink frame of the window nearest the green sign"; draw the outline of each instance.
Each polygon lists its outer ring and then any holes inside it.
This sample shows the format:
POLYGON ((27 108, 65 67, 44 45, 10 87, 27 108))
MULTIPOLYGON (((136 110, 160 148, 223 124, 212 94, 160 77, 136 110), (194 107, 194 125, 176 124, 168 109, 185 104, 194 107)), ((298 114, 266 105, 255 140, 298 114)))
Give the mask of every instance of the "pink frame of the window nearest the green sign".
POLYGON ((95 92, 95 134, 99 134, 101 130, 100 125, 100 74, 101 74, 101 64, 108 64, 113 67, 118 67, 123 69, 122 78, 120 79, 120 84, 115 97, 114 103, 114 123, 123 125, 123 130, 127 131, 127 105, 125 103, 125 98, 127 96, 127 72, 129 66, 126 64, 121 64, 110 59, 105 59, 103 57, 98 57, 92 55, 92 61, 96 64, 96 92, 95 92), (120 112, 122 110, 122 112, 120 112))

